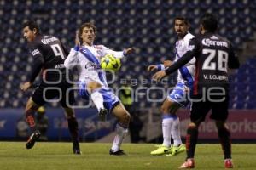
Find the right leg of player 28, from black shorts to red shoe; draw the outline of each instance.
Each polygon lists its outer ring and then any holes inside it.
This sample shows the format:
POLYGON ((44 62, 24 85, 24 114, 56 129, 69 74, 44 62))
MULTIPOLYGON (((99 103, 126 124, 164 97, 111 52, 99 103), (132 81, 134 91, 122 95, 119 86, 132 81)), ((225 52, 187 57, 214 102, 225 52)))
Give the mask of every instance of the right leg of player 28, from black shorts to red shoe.
MULTIPOLYGON (((215 97, 216 98, 216 97, 215 97)), ((221 97, 218 97, 221 98, 221 97)), ((225 100, 222 102, 214 102, 212 104, 212 115, 211 118, 215 120, 216 127, 218 129, 218 139, 222 146, 224 153, 224 167, 232 168, 232 158, 231 158, 231 140, 230 140, 230 130, 226 124, 229 112, 229 96, 225 96, 225 100)))

